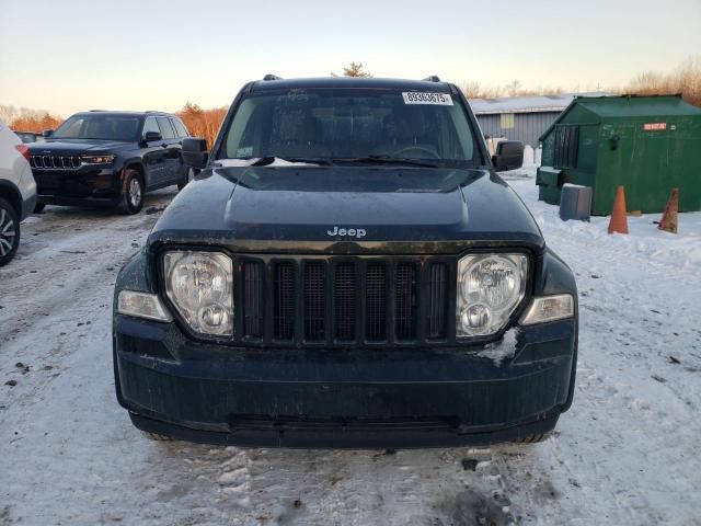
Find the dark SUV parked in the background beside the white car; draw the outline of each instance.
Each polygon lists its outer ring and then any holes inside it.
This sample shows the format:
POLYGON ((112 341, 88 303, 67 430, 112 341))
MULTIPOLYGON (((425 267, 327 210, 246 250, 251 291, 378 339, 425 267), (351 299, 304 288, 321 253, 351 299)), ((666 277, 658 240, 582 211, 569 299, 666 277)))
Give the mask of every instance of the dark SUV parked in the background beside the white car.
POLYGON ((161 112, 77 113, 30 146, 36 211, 46 205, 118 206, 137 214, 146 192, 187 184, 183 123, 161 112))

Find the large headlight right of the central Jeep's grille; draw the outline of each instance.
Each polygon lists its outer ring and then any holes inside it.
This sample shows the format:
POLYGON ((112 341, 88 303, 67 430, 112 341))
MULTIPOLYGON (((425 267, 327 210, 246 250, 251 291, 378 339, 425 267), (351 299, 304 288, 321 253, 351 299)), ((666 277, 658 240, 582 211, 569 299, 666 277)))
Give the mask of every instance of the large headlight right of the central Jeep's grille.
POLYGON ((524 254, 474 254, 458 263, 456 334, 494 334, 526 294, 528 258, 524 254))

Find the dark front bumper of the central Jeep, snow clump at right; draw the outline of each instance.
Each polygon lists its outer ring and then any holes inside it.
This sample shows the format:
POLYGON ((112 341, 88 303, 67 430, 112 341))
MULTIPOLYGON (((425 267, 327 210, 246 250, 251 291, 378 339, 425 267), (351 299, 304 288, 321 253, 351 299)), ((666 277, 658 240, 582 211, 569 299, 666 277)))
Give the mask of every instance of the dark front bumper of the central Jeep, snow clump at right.
POLYGON ((264 447, 491 444, 554 427, 572 401, 576 321, 521 329, 496 367, 475 348, 261 350, 116 316, 117 398, 146 431, 264 447))

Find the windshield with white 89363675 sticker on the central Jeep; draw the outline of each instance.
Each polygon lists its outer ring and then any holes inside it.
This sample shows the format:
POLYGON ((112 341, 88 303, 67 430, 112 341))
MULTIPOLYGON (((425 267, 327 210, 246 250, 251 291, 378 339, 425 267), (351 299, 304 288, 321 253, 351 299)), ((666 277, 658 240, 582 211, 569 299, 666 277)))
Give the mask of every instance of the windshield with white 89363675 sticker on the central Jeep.
POLYGON ((463 107, 450 94, 319 89, 251 94, 226 132, 219 159, 479 159, 463 107))

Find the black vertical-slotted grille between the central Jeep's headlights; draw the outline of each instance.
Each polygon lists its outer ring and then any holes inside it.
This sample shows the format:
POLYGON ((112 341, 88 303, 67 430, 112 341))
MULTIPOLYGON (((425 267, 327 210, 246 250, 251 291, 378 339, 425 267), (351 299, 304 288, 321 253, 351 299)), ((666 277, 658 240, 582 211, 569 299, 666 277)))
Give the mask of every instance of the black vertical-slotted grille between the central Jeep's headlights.
POLYGON ((312 347, 446 342, 455 339, 451 268, 451 261, 424 256, 241 256, 235 340, 312 347))

